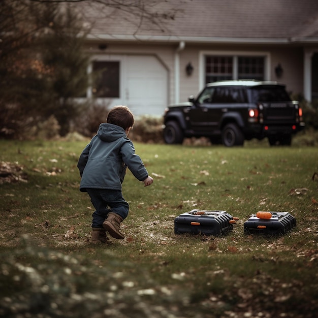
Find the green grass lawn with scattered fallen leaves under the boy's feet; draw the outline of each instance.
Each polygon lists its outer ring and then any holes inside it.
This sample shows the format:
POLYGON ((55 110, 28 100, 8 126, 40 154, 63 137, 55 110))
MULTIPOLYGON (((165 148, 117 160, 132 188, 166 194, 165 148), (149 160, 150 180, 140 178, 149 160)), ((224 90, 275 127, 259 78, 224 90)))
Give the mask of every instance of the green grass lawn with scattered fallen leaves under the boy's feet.
POLYGON ((316 316, 316 147, 135 143, 154 182, 126 174, 125 239, 93 245, 76 167, 86 143, 0 141, 0 316, 316 316), (192 209, 239 220, 225 236, 174 234, 192 209), (288 211, 297 227, 244 235, 260 210, 288 211))

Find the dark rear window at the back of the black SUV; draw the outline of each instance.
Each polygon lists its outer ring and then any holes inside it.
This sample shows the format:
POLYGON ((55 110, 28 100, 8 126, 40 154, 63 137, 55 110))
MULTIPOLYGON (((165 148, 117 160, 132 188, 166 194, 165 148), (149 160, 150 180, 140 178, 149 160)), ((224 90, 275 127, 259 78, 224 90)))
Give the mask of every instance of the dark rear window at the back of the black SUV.
POLYGON ((251 87, 252 102, 288 102, 291 101, 283 86, 251 87))

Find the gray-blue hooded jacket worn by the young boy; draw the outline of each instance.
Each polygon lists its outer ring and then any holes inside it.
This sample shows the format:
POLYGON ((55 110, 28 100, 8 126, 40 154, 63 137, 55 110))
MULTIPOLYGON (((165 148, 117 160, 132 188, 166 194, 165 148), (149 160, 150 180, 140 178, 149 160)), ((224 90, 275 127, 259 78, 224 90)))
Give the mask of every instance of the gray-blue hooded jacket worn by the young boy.
POLYGON ((127 167, 139 181, 148 177, 123 128, 110 123, 100 124, 97 135, 81 153, 77 167, 82 177, 82 192, 86 192, 86 188, 121 190, 127 167))

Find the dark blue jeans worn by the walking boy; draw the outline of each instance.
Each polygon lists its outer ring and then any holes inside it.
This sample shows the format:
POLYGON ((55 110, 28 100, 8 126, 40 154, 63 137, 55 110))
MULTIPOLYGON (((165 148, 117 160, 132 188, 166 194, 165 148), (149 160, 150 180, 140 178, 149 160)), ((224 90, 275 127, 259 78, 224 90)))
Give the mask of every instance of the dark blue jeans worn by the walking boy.
POLYGON ((129 204, 122 197, 120 190, 87 188, 90 201, 96 211, 92 214, 92 228, 103 228, 103 222, 109 212, 119 214, 123 219, 127 217, 129 204))

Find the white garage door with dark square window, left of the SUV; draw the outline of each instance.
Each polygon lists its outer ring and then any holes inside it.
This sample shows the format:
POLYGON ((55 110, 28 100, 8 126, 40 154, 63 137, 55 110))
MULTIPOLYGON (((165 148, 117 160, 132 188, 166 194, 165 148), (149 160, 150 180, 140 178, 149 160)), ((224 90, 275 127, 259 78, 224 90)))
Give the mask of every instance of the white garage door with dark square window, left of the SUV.
POLYGON ((168 72, 156 56, 110 54, 93 60, 106 67, 98 88, 99 104, 126 105, 135 116, 163 115, 168 103, 168 72))

